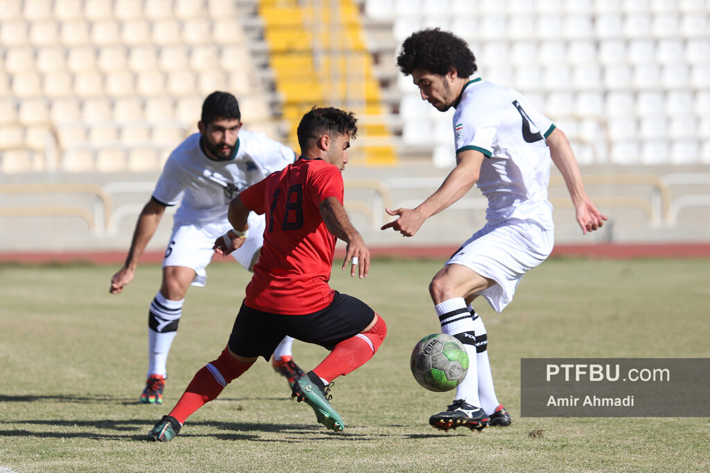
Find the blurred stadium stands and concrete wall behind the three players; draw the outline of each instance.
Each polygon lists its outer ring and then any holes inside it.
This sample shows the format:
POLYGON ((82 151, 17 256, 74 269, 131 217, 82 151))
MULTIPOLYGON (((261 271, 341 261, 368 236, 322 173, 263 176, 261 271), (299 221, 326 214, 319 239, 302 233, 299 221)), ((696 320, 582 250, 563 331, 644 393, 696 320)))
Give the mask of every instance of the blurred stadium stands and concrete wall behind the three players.
POLYGON ((582 237, 554 170, 557 243, 710 243, 709 23, 710 0, 0 0, 0 252, 125 252, 214 90, 293 148, 311 106, 356 112, 346 208, 366 242, 458 245, 484 225, 476 189, 415 238, 379 230, 455 164, 452 111, 395 67, 428 27, 567 133, 610 219, 582 237))

